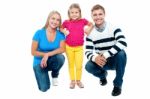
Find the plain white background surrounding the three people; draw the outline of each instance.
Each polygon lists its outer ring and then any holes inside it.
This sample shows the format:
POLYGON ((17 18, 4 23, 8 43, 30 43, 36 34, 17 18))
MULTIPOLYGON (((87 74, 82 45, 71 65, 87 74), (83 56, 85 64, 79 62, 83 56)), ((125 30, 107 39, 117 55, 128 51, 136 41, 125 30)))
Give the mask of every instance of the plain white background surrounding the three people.
MULTIPOLYGON (((32 69, 31 42, 37 29, 44 26, 50 11, 58 10, 67 18, 71 3, 79 3, 82 16, 91 20, 93 5, 106 9, 106 20, 117 23, 127 38, 127 66, 122 95, 116 99, 150 98, 150 9, 148 0, 1 0, 0 1, 0 99, 112 99, 114 71, 108 84, 87 73, 83 66, 84 89, 69 89, 67 59, 60 71, 59 86, 47 92, 37 88, 32 69)), ((84 60, 87 61, 86 58, 84 60)), ((85 64, 84 62, 84 64, 85 64)))

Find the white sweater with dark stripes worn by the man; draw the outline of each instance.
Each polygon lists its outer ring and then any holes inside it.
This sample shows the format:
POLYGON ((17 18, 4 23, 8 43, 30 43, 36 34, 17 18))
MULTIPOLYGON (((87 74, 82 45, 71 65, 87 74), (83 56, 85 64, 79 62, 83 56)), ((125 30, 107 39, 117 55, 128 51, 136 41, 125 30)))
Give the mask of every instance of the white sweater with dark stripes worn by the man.
POLYGON ((103 54, 107 59, 127 47, 125 36, 120 28, 106 23, 102 32, 93 28, 86 37, 85 55, 89 60, 95 61, 98 54, 103 54))

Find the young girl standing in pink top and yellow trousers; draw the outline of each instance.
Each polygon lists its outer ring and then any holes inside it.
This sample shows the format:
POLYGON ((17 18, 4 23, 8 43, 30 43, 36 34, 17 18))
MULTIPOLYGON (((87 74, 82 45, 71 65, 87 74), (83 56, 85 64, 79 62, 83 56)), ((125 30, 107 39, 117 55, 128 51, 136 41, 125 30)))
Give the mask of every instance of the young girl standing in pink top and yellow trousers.
POLYGON ((84 32, 88 35, 93 28, 91 22, 81 18, 81 9, 78 4, 72 4, 68 10, 69 20, 62 24, 61 31, 66 35, 66 55, 70 73, 70 88, 75 85, 84 88, 81 82, 84 32), (84 31, 84 27, 88 28, 84 31))

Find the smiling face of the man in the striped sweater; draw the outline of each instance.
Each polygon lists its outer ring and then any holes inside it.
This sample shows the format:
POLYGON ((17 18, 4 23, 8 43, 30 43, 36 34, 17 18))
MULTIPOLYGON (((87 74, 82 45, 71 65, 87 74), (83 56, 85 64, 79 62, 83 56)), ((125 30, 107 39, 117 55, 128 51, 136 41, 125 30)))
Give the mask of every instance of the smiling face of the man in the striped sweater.
POLYGON ((95 24, 97 26, 100 26, 103 24, 104 22, 104 19, 105 19, 105 13, 103 10, 101 9, 98 9, 98 10, 94 10, 92 12, 92 18, 93 18, 93 21, 95 22, 95 24))

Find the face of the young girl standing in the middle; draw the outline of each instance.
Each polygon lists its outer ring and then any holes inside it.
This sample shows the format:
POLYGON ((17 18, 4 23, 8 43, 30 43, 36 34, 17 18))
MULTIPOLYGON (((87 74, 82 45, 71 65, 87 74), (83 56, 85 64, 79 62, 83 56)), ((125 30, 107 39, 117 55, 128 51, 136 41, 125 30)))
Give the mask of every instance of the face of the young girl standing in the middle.
POLYGON ((77 9, 77 8, 72 8, 72 9, 70 9, 69 10, 69 17, 70 17, 70 19, 72 19, 72 20, 77 20, 77 19, 79 19, 80 18, 80 11, 79 11, 79 9, 77 9))

